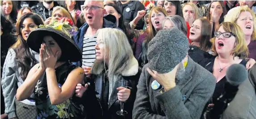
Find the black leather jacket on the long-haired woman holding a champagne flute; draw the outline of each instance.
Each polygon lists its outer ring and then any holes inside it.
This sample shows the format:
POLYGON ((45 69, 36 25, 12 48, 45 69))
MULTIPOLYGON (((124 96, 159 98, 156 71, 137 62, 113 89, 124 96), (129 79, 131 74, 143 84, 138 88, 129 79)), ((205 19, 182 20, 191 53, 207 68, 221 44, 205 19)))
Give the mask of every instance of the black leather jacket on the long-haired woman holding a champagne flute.
POLYGON ((137 84, 140 74, 141 68, 138 69, 138 73, 136 75, 122 76, 119 78, 113 86, 108 106, 104 106, 105 104, 103 103, 105 74, 101 73, 100 75, 92 75, 91 79, 88 80, 88 82, 90 82, 90 86, 83 97, 85 112, 87 113, 86 119, 132 119, 132 110, 136 98, 137 84), (120 79, 128 81, 128 87, 130 87, 130 96, 124 103, 124 111, 128 112, 125 117, 118 116, 116 114, 117 111, 121 110, 117 96, 118 90, 116 90, 120 79))

